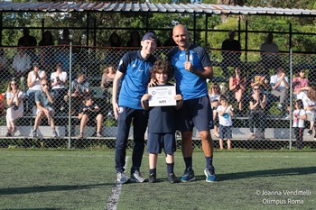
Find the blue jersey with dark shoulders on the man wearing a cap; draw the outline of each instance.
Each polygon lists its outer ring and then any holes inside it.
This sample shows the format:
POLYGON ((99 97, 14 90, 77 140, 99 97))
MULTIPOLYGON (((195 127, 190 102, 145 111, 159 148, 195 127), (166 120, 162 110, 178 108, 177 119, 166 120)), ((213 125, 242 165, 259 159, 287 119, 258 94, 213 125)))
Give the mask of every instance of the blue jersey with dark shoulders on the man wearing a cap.
POLYGON ((156 58, 151 55, 143 59, 141 50, 131 51, 120 60, 117 70, 122 72, 121 88, 118 105, 135 109, 143 109, 141 98, 147 90, 150 81, 150 70, 156 58))

